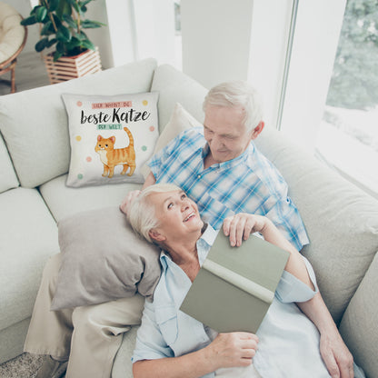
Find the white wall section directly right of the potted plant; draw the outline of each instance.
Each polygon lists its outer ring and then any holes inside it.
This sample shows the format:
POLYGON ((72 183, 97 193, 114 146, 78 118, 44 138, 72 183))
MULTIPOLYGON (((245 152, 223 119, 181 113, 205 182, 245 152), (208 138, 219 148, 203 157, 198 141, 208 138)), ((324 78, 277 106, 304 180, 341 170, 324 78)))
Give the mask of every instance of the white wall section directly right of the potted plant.
POLYGON ((109 64, 124 65, 154 57, 159 64, 174 65, 174 0, 101 2, 104 9, 97 5, 96 15, 101 21, 100 13, 106 14, 109 35, 100 32, 95 35, 95 41, 101 51, 107 48, 109 64))

